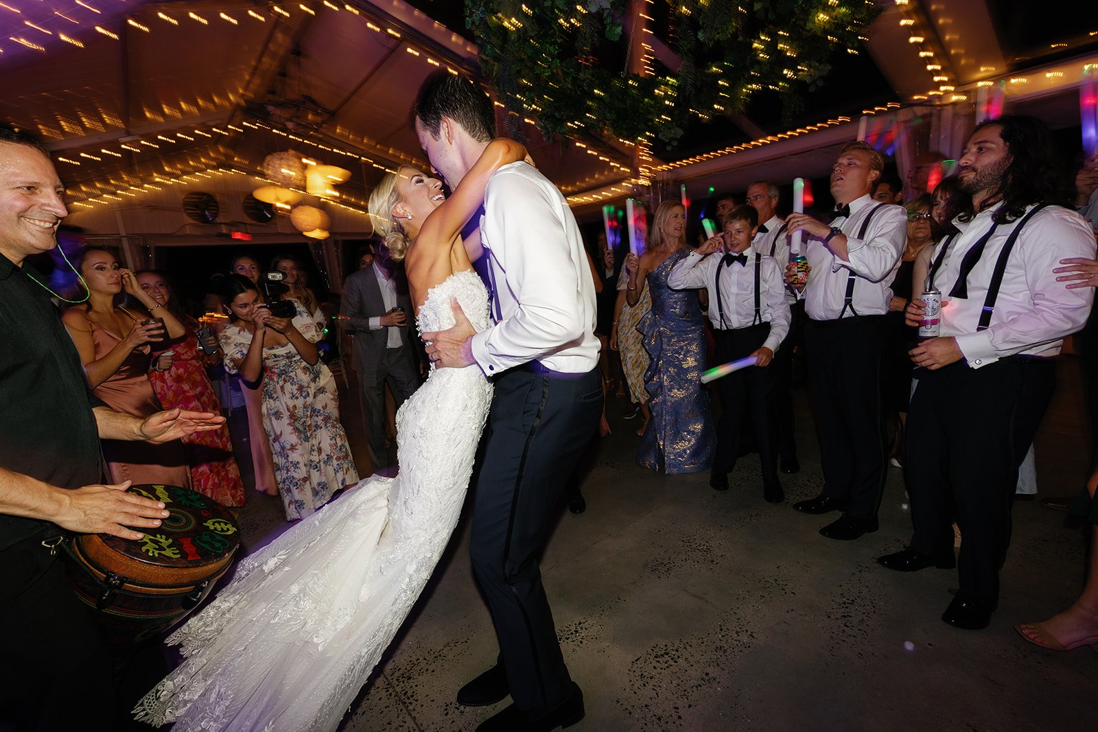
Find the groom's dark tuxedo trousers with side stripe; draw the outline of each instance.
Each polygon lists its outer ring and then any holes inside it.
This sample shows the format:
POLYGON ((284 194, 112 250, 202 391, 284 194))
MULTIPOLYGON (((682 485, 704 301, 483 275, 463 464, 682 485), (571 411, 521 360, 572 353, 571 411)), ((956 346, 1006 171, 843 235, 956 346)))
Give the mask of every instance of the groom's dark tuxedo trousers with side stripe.
POLYGON ((572 688, 537 552, 602 405, 597 370, 563 374, 531 362, 495 379, 469 550, 519 709, 556 705, 572 688))

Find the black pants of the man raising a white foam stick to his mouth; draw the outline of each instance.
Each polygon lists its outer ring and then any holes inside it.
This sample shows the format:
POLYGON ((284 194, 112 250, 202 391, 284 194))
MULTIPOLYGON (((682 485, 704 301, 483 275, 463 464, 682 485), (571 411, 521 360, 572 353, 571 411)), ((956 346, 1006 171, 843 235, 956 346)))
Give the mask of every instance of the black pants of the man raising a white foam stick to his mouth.
POLYGON ((824 495, 847 504, 844 516, 866 520, 876 517, 885 484, 883 322, 869 315, 805 325, 824 495))

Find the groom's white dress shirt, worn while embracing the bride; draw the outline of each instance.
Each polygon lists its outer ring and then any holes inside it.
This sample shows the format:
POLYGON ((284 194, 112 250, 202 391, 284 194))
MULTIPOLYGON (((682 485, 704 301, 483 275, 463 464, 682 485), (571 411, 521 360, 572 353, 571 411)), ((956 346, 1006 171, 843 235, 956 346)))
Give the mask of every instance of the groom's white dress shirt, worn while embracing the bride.
POLYGON ((472 338, 484 373, 535 359, 565 373, 594 369, 595 284, 575 216, 557 187, 526 162, 500 168, 484 191, 481 243, 500 308, 498 322, 472 338))

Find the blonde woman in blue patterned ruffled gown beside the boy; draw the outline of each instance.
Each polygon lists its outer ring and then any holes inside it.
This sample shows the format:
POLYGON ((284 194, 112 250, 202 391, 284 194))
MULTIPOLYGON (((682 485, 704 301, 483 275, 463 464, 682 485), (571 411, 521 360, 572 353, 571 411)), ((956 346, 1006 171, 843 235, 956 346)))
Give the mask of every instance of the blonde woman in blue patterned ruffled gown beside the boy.
POLYGON ((671 268, 688 254, 685 223, 681 203, 661 203, 649 230, 648 251, 634 262, 631 274, 635 281, 647 281, 652 297, 651 311, 637 326, 652 359, 645 373, 652 420, 641 438, 637 463, 668 474, 708 470, 716 449, 709 398, 701 384, 705 316, 696 291, 668 286, 671 268))

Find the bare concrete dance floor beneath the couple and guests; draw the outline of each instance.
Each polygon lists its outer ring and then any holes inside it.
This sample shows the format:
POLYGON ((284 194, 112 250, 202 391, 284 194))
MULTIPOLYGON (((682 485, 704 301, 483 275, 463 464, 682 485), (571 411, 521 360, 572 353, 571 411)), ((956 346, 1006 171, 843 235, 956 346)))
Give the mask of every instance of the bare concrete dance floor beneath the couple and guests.
MULTIPOLYGON (((1086 438, 1076 364, 1061 382, 1037 441, 1044 496, 1077 491, 1086 438)), ((541 571, 584 730, 1083 730, 1098 695, 1098 655, 1031 646, 1012 626, 1066 607, 1082 584, 1083 542, 1065 514, 1018 502, 991 626, 960 631, 939 619, 952 570, 889 572, 874 559, 906 544, 910 523, 892 469, 881 530, 853 542, 817 533, 830 517, 794 511, 819 493, 818 450, 798 392, 802 472, 787 499, 762 499, 758 457, 732 489, 706 474, 638 468, 636 421, 610 399, 614 435, 600 441, 583 483, 587 510, 561 518, 541 571)), ((357 396, 341 399, 360 465, 357 396)), ((277 498, 249 496, 245 545, 285 526, 277 498)), ((502 709, 467 709, 457 689, 488 668, 496 644, 470 572, 464 522, 385 661, 341 727, 471 730, 502 709)))

